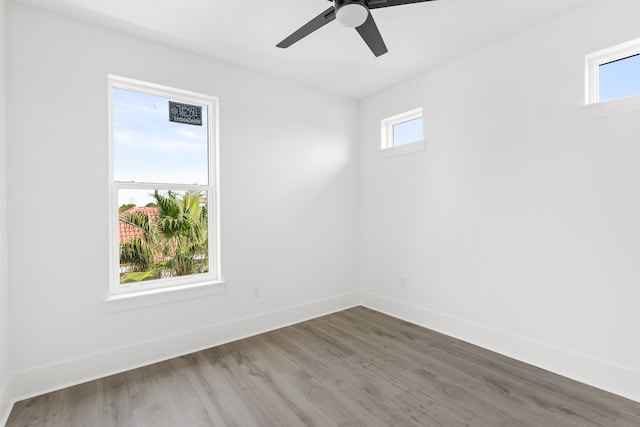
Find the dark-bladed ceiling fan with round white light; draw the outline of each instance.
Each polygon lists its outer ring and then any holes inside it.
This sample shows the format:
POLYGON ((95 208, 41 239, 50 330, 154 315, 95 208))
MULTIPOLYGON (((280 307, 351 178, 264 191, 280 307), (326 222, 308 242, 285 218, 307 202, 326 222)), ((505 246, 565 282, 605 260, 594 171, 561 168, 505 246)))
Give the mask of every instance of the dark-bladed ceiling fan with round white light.
POLYGON ((409 3, 422 3, 433 0, 329 0, 333 3, 329 9, 304 24, 293 34, 282 40, 276 46, 287 48, 295 42, 337 19, 345 27, 355 28, 375 56, 387 53, 387 46, 382 40, 376 26, 371 9, 381 7, 400 6, 409 3))

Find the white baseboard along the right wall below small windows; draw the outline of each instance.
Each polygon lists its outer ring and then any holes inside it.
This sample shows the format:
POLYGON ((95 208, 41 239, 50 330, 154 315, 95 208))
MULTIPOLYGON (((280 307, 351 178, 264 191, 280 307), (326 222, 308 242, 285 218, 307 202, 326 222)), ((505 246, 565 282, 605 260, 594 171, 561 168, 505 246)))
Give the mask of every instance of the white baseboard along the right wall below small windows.
POLYGON ((640 372, 370 292, 362 305, 640 402, 640 372))

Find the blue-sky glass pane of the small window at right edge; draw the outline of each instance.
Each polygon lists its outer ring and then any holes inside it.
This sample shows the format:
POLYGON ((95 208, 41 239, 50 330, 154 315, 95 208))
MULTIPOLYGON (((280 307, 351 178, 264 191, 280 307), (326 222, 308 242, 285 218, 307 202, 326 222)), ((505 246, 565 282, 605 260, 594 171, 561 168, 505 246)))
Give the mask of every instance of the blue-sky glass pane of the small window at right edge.
POLYGON ((640 94, 640 54, 602 64, 600 101, 640 94))

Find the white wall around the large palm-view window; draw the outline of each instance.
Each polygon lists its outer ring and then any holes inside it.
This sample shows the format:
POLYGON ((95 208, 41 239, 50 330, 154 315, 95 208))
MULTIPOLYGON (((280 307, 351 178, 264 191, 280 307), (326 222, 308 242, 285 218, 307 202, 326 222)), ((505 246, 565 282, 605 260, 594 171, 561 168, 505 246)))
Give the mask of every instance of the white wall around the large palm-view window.
POLYGON ((354 101, 39 9, 7 13, 16 397, 358 303, 354 101), (223 294, 106 311, 109 73, 219 97, 223 294))

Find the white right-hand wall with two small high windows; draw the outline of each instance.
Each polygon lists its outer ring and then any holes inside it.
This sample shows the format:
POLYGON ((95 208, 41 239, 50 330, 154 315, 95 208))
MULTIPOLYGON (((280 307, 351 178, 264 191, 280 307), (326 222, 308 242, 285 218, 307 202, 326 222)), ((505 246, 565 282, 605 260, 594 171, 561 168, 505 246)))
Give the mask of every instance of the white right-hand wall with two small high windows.
POLYGON ((364 304, 640 401, 640 112, 582 106, 639 15, 593 2, 361 102, 364 304), (426 150, 379 159, 417 106, 426 150))

